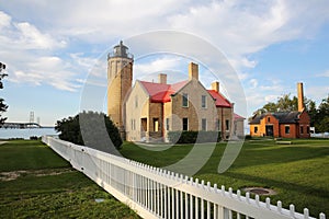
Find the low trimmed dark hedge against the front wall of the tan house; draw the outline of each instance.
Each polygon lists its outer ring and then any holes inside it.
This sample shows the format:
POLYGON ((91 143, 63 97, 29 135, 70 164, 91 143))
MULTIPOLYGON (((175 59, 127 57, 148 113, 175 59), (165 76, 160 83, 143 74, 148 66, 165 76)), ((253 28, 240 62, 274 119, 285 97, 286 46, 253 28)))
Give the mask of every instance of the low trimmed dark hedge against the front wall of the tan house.
POLYGON ((202 142, 219 142, 220 131, 169 131, 168 138, 170 142, 177 143, 202 143, 202 142))

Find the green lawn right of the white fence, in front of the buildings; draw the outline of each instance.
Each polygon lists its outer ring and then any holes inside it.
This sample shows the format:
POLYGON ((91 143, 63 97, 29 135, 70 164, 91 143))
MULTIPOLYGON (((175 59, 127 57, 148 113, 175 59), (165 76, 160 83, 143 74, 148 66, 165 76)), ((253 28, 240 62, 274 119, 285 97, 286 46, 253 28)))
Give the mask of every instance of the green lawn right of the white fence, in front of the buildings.
MULTIPOLYGON (((226 143, 218 143, 206 164, 194 175, 234 191, 247 186, 273 188, 272 204, 283 201, 296 211, 307 207, 310 215, 329 216, 329 140, 292 140, 293 145, 276 145, 274 140, 249 140, 224 174, 217 173, 226 143)), ((207 146, 204 146, 207 147, 207 146)), ((163 151, 145 150, 125 142, 122 153, 155 166, 173 164, 184 158, 193 146, 174 146, 163 151)), ((152 148, 151 148, 152 149, 152 148)), ((265 196, 261 197, 262 200, 265 196)))

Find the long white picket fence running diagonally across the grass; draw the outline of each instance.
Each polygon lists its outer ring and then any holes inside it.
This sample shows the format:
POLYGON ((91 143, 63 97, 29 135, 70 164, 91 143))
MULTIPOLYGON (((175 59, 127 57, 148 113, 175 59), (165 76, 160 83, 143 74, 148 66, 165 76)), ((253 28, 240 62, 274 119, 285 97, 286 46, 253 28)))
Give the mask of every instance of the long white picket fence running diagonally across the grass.
MULTIPOLYGON (((197 178, 54 137, 44 136, 43 142, 143 218, 313 218, 307 208, 302 215, 295 212, 294 205, 287 210, 281 201, 276 206, 270 204, 270 198, 262 203, 259 196, 253 199, 249 193, 235 194, 231 188, 217 188, 216 184, 211 186, 197 178)), ((325 219, 325 214, 319 218, 325 219)))

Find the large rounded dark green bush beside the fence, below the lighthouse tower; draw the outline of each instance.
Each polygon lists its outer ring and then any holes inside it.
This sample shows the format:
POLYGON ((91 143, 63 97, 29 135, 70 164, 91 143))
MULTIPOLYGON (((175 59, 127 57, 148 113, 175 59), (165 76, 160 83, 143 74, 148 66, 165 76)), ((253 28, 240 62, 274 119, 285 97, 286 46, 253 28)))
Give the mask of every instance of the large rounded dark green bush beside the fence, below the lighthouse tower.
POLYGON ((57 120, 55 129, 59 138, 77 145, 88 146, 117 154, 123 141, 118 129, 103 113, 83 112, 75 117, 57 120))

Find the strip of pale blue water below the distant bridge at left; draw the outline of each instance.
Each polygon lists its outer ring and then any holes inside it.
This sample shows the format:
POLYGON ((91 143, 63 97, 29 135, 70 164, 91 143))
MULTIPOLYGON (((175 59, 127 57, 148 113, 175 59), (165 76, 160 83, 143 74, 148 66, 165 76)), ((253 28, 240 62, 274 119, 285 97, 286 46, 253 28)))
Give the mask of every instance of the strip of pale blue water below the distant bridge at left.
POLYGON ((24 138, 30 139, 31 136, 42 137, 44 135, 58 135, 55 128, 0 128, 0 139, 24 138))

